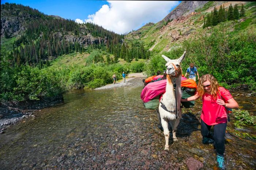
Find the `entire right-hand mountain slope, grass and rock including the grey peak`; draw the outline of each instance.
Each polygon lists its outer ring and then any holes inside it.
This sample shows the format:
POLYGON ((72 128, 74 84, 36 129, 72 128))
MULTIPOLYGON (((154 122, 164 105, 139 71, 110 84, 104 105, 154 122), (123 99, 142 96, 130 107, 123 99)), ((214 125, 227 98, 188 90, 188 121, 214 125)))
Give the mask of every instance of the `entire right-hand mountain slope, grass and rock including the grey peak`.
MULTIPOLYGON (((133 31, 125 36, 125 40, 143 42, 145 48, 153 52, 171 50, 175 46, 179 46, 178 44, 184 40, 201 34, 201 32, 205 30, 202 27, 204 24, 204 17, 209 14, 207 11, 213 9, 215 5, 220 5, 222 3, 225 4, 226 9, 228 8, 227 4, 235 4, 233 1, 209 1, 208 3, 202 1, 198 1, 197 3, 193 3, 193 1, 182 1, 182 3, 170 12, 161 22, 147 24, 139 30, 133 31), (189 11, 198 12, 185 12, 186 9, 184 8, 188 6, 191 6, 189 11), (165 20, 168 19, 171 20, 167 23, 165 20)), ((238 7, 241 8, 240 5, 245 3, 246 2, 238 2, 238 7)), ((244 19, 246 20, 246 18, 248 18, 245 23, 249 25, 246 29, 252 28, 252 30, 255 30, 255 11, 253 13, 255 5, 249 2, 247 4, 251 4, 251 7, 245 5, 248 15, 247 17, 244 17, 244 19)), ((237 20, 228 22, 230 23, 229 27, 231 30, 234 30, 235 25, 240 25, 240 22, 237 22, 237 20)))

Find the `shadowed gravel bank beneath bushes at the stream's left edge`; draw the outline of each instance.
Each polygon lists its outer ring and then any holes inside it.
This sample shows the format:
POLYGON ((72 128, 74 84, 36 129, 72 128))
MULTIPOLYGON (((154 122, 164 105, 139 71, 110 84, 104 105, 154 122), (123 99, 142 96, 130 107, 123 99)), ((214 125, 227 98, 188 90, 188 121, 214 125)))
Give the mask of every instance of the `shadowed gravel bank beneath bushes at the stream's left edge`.
POLYGON ((34 117, 35 111, 63 102, 63 95, 40 98, 39 100, 27 100, 22 102, 0 103, 0 134, 6 128, 18 123, 24 118, 34 117))

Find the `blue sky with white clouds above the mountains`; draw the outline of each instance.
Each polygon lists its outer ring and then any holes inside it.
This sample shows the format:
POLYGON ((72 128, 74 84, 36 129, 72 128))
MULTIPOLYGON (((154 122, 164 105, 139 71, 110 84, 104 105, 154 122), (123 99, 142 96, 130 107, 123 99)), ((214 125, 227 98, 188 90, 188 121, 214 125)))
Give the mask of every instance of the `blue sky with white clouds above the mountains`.
POLYGON ((148 22, 159 22, 181 1, 1 0, 1 4, 6 2, 79 23, 94 22, 121 34, 137 30, 148 22))

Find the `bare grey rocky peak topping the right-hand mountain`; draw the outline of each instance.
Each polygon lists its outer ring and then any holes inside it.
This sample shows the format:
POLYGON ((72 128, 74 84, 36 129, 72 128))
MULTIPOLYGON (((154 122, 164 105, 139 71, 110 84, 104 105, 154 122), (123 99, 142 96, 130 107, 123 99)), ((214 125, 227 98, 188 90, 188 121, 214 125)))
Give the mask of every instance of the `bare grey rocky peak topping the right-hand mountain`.
POLYGON ((195 9, 203 7, 208 1, 182 1, 173 11, 171 11, 163 20, 176 19, 182 15, 190 14, 195 9))

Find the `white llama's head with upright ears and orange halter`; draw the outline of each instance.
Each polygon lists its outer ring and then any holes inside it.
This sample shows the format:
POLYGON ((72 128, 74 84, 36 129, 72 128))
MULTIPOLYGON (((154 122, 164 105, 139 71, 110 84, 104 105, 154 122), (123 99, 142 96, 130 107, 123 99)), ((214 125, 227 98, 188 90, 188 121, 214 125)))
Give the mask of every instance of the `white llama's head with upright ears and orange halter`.
POLYGON ((181 74, 180 64, 181 61, 185 58, 186 52, 182 54, 182 56, 176 60, 170 60, 170 58, 162 55, 162 57, 166 60, 166 73, 172 77, 176 77, 181 74))

